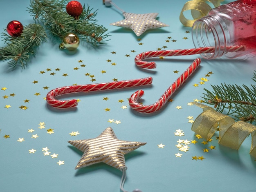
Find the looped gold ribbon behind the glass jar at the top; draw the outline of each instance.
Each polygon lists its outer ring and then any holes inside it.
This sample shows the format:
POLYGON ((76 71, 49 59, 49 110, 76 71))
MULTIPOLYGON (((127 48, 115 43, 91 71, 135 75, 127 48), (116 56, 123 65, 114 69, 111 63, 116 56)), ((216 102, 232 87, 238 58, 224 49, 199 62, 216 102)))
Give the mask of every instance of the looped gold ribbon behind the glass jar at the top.
POLYGON ((211 2, 214 7, 218 7, 223 0, 191 0, 186 2, 180 12, 180 22, 185 27, 192 27, 196 20, 207 16, 208 12, 212 9, 212 7, 207 4, 207 1, 211 2), (191 10, 193 20, 189 20, 184 16, 183 12, 188 10, 191 10))

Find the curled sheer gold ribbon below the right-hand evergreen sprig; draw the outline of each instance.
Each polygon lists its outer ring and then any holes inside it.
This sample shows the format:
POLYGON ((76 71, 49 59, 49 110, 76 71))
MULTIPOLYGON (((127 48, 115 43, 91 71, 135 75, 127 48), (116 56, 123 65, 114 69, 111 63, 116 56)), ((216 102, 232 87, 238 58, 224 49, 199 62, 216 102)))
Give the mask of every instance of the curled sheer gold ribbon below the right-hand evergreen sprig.
POLYGON ((212 107, 201 103, 194 105, 203 109, 195 119, 192 131, 209 140, 219 127, 219 144, 238 150, 245 138, 252 134, 250 155, 256 157, 256 126, 244 121, 235 121, 230 116, 216 112, 212 107))

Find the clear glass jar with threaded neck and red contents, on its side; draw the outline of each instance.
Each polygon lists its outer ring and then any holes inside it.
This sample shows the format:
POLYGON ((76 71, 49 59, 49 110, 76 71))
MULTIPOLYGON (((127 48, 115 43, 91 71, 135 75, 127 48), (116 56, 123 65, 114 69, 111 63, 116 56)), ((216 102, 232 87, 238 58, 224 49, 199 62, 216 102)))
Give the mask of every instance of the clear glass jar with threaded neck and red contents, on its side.
POLYGON ((256 0, 238 0, 211 9, 206 17, 193 24, 192 39, 196 48, 215 47, 213 53, 201 54, 206 59, 255 56, 256 0), (229 52, 229 46, 244 46, 244 49, 229 52))

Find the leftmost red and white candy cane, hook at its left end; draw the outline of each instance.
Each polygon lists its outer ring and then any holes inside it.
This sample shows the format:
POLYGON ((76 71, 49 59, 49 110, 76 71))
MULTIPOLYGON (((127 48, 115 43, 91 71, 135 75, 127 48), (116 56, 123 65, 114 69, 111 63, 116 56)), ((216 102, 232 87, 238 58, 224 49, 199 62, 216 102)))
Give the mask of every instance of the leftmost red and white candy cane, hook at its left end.
POLYGON ((66 87, 59 87, 50 91, 46 96, 47 103, 56 108, 70 108, 76 107, 78 104, 77 99, 71 100, 57 100, 55 97, 63 94, 78 93, 78 92, 94 92, 108 89, 121 89, 126 87, 136 87, 141 85, 152 84, 152 77, 133 79, 133 80, 122 80, 108 83, 96 83, 88 85, 72 85, 66 87))

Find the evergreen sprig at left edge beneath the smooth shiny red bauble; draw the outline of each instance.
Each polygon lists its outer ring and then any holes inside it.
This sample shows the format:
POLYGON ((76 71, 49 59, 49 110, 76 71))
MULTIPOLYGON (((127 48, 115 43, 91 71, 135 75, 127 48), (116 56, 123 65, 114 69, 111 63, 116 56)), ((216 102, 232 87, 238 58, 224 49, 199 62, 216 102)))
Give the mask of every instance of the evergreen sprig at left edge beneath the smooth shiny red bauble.
POLYGON ((8 64, 12 68, 19 63, 23 69, 29 58, 36 54, 38 46, 47 38, 45 29, 39 24, 25 26, 19 37, 11 37, 7 33, 2 33, 2 37, 7 46, 0 47, 0 60, 10 60, 8 64))

